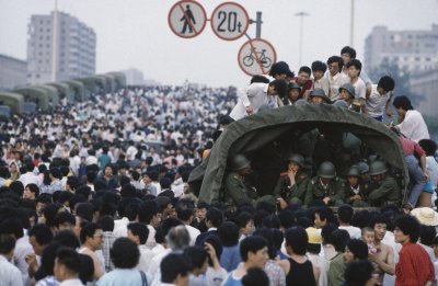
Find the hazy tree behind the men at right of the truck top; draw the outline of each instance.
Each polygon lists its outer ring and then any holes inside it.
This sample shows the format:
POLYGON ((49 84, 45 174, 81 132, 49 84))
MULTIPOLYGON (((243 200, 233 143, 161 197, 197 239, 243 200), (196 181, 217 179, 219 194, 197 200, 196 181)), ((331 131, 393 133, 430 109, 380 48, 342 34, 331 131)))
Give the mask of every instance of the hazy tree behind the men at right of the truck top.
POLYGON ((370 72, 372 82, 379 82, 379 79, 383 76, 390 76, 395 81, 394 95, 406 95, 410 98, 412 104, 418 106, 419 103, 425 100, 424 95, 413 93, 410 89, 411 73, 407 69, 402 69, 395 60, 389 60, 383 58, 379 67, 374 68, 370 72))

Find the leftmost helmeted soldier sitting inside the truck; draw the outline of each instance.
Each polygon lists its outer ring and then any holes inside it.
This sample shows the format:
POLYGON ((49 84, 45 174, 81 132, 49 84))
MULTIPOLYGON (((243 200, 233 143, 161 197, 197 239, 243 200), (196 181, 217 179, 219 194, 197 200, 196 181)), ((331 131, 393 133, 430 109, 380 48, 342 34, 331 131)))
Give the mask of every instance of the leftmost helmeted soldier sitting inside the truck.
POLYGON ((241 204, 256 206, 260 202, 266 202, 275 206, 272 195, 257 197, 255 187, 245 184, 245 176, 251 173, 251 161, 243 155, 237 155, 231 161, 231 173, 226 179, 224 201, 227 204, 238 207, 241 204))

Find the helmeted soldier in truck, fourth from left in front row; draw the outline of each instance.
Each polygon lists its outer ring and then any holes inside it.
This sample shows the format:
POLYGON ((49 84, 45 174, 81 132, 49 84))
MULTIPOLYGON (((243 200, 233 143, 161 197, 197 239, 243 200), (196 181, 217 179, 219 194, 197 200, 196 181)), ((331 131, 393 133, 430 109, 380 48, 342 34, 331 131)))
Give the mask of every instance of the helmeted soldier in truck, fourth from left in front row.
MULTIPOLYGON (((364 184, 360 184, 360 170, 356 165, 351 165, 347 171, 347 184, 345 187, 345 201, 354 207, 368 207, 366 202, 367 190, 364 184)), ((367 185, 368 186, 368 185, 367 185)))

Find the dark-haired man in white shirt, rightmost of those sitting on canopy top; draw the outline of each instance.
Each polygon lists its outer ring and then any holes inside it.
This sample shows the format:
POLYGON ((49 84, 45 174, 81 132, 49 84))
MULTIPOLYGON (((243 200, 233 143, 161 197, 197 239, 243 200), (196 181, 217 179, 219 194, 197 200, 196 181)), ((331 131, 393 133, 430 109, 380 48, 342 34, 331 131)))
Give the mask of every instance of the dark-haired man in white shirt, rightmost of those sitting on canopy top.
POLYGON ((379 80, 379 83, 372 84, 371 93, 367 95, 368 115, 378 122, 383 121, 383 111, 387 111, 388 117, 392 117, 391 99, 394 90, 394 80, 384 76, 379 80))

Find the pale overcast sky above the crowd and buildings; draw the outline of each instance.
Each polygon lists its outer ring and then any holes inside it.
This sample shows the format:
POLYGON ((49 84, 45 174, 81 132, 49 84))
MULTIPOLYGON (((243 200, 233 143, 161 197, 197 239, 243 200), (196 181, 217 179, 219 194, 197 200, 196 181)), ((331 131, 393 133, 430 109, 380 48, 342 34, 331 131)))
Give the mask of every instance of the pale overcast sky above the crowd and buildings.
MULTIPOLYGON (((438 0, 354 0, 354 43, 364 55, 365 38, 372 27, 430 30, 438 24, 438 0)), ((26 58, 27 25, 32 14, 49 14, 55 0, 0 0, 0 54, 26 58)), ((211 87, 244 87, 250 77, 239 67, 243 36, 223 41, 207 22, 196 37, 176 36, 169 26, 174 0, 58 0, 58 10, 77 16, 97 35, 96 72, 137 68, 146 79, 163 84, 188 80, 211 87)), ((209 19, 220 0, 199 0, 209 19)), ((262 38, 298 71, 300 20, 303 19, 302 65, 338 55, 349 45, 351 0, 238 0, 251 19, 261 11, 262 38)), ((255 24, 247 30, 255 37, 255 24)))

